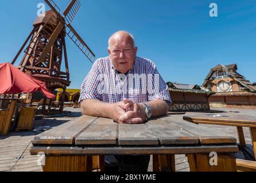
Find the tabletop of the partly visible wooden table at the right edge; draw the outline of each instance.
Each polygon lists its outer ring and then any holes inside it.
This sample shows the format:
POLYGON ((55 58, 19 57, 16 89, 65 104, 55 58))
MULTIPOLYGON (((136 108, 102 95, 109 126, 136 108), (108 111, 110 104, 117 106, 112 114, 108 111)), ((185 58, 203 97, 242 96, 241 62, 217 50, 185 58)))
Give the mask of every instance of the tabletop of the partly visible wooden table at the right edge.
POLYGON ((195 124, 219 124, 256 128, 256 117, 241 113, 186 113, 183 119, 195 124))

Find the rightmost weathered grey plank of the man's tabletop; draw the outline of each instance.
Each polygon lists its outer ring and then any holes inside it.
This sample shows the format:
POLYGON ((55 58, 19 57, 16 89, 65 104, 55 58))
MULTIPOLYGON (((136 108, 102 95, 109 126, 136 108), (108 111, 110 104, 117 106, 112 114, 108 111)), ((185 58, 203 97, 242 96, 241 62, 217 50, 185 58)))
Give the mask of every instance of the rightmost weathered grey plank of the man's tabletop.
POLYGON ((161 120, 169 122, 169 124, 176 125, 183 130, 195 134, 199 137, 201 144, 235 144, 236 138, 228 136, 228 134, 221 132, 212 132, 203 126, 190 124, 185 121, 176 121, 172 116, 161 117, 161 120))

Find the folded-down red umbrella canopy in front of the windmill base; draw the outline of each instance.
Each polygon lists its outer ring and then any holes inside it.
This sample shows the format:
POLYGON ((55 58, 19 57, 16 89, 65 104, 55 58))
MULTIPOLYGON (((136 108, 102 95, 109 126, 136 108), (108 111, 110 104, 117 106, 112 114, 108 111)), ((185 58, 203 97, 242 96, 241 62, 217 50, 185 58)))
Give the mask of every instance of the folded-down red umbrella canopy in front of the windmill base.
POLYGON ((33 92, 41 92, 52 100, 56 98, 49 92, 44 82, 25 74, 10 63, 0 64, 0 94, 33 92))

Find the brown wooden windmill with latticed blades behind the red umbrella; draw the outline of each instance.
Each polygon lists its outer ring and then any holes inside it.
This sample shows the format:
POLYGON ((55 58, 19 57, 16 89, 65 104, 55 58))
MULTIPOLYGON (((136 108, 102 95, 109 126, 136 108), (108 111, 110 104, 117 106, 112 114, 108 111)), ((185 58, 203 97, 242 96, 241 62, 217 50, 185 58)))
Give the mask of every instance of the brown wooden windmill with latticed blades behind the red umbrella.
MULTIPOLYGON (((71 22, 80 9, 79 0, 72 0, 67 8, 60 13, 59 7, 52 0, 45 0, 51 10, 45 12, 44 17, 37 17, 33 23, 33 30, 13 59, 12 64, 17 61, 21 52, 18 69, 46 83, 46 87, 53 92, 57 88, 63 89, 65 93, 70 85, 67 48, 65 37, 69 37, 82 53, 93 62, 95 54, 87 46, 86 42, 73 29, 71 22), (26 47, 26 45, 28 45, 26 47), (65 71, 61 71, 61 63, 65 61, 65 71)), ((60 112, 63 112, 64 96, 61 98, 60 112)), ((45 100, 46 101, 46 100, 45 100)), ((43 113, 45 113, 45 101, 43 113)), ((51 110, 50 105, 48 110, 51 110)))

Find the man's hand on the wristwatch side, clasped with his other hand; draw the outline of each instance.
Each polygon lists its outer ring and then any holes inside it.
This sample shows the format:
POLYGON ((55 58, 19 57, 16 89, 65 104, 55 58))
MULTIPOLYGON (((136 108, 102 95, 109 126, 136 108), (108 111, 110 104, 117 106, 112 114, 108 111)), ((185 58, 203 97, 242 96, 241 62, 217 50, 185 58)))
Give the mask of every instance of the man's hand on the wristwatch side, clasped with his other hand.
MULTIPOLYGON (((129 104, 132 101, 129 101, 129 104)), ((143 124, 146 121, 145 106, 134 103, 130 106, 129 112, 119 117, 119 124, 143 124)))

